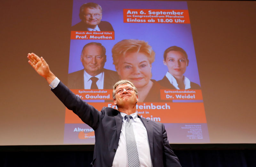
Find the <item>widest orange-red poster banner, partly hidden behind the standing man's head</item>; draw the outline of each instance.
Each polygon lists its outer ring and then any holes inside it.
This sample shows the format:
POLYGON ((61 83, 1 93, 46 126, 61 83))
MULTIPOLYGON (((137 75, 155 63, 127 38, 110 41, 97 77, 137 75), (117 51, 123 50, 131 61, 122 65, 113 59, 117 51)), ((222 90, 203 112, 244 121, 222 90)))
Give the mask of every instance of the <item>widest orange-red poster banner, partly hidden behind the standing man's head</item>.
MULTIPOLYGON (((116 108, 113 103, 89 103, 98 111, 102 107, 116 108)), ((137 103, 140 117, 162 123, 206 123, 203 103, 137 103)), ((66 108, 65 123, 83 123, 66 108)))

